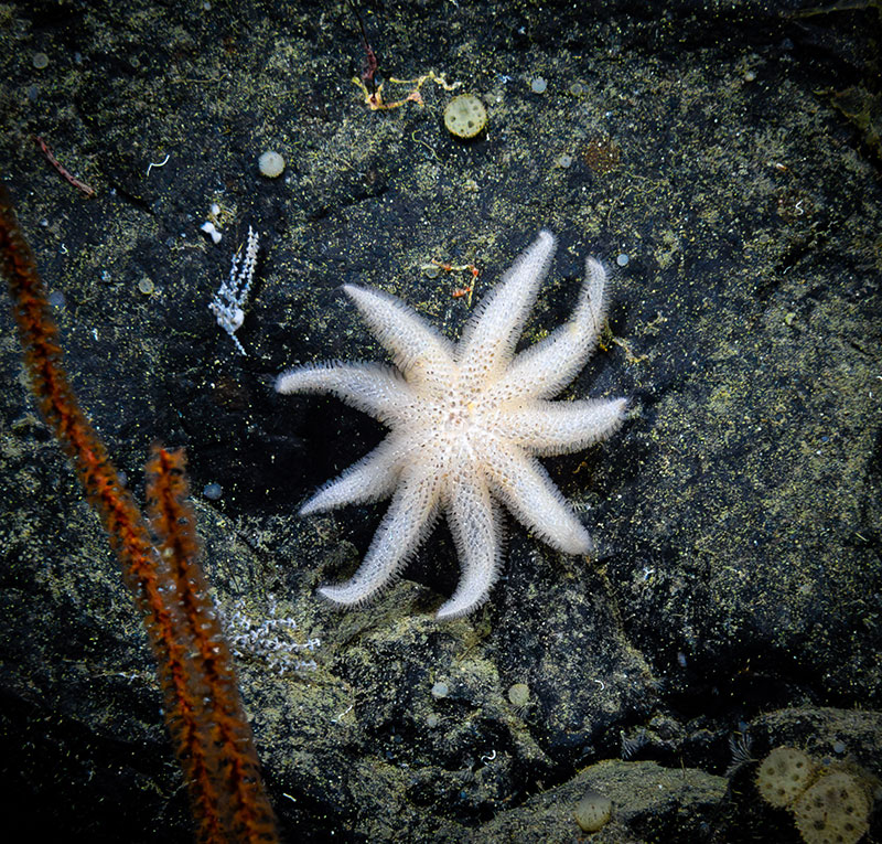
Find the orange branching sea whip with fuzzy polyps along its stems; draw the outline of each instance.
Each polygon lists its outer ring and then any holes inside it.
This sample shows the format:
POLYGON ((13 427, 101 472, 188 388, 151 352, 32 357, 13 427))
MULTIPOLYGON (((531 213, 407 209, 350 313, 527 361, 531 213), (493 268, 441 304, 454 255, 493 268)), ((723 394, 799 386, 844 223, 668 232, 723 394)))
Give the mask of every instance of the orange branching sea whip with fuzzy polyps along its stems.
POLYGON ((198 563, 183 452, 153 448, 147 466, 148 527, 76 399, 45 286, 2 182, 0 274, 9 282, 40 409, 101 519, 143 618, 196 837, 206 844, 277 842, 276 818, 260 778, 229 649, 198 563))

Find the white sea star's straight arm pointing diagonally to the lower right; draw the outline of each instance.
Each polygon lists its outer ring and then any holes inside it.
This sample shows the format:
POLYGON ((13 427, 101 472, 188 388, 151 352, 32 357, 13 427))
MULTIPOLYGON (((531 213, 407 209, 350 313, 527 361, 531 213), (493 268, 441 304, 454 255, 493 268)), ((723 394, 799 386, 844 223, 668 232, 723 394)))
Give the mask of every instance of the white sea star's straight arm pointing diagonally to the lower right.
POLYGON ((484 444, 484 467, 493 492, 519 522, 566 554, 589 554, 591 536, 537 460, 516 446, 484 444))

